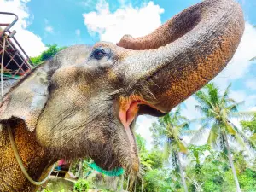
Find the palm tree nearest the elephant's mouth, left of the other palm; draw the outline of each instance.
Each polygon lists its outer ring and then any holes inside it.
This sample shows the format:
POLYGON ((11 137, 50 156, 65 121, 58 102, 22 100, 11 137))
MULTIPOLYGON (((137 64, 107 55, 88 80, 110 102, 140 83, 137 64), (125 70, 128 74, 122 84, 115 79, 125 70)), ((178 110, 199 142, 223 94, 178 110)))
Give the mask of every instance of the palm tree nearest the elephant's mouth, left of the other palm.
POLYGON ((172 165, 179 171, 182 178, 184 190, 188 192, 180 154, 187 153, 187 147, 181 136, 185 130, 189 130, 189 120, 183 117, 180 111, 181 108, 178 106, 174 113, 167 113, 159 118, 158 123, 154 123, 150 130, 153 133, 154 144, 164 147, 164 160, 172 159, 172 165))

